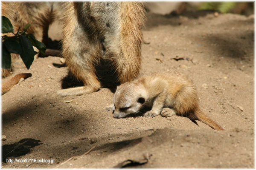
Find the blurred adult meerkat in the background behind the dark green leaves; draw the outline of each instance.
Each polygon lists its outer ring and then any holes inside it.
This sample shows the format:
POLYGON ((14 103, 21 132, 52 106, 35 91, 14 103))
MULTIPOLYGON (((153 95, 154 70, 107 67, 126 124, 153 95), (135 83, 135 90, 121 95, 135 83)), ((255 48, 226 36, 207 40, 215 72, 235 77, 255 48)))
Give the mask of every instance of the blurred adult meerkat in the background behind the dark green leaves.
MULTIPOLYGON (((38 41, 47 45, 49 25, 54 19, 59 19, 60 7, 59 3, 52 2, 1 2, 2 15, 7 17, 13 26, 13 32, 22 31, 23 27, 30 23, 27 30, 33 34, 38 41), (19 29, 20 28, 20 29, 19 29)), ((13 33, 2 34, 9 37, 14 36, 13 33)), ((57 50, 47 49, 46 55, 57 54, 57 50)), ((18 58, 18 54, 11 54, 12 59, 18 58)), ((11 74, 11 69, 2 69, 2 77, 11 74)))

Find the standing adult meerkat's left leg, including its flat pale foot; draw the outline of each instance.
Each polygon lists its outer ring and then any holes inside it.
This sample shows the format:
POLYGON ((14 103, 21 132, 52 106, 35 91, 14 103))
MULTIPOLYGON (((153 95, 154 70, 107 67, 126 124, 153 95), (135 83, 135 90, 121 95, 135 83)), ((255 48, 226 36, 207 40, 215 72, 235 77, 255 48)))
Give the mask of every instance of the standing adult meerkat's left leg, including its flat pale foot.
POLYGON ((70 96, 99 90, 94 62, 99 59, 100 46, 93 24, 90 23, 89 3, 68 2, 63 6, 63 55, 75 77, 84 87, 57 91, 57 95, 70 96))

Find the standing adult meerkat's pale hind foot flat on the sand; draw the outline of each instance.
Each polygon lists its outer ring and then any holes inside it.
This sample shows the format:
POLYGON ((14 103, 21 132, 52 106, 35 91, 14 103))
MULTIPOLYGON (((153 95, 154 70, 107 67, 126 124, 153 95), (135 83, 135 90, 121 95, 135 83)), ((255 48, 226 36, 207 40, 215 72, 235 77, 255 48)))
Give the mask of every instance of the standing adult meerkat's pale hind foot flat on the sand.
POLYGON ((83 94, 93 93, 95 91, 98 91, 99 89, 100 87, 85 85, 82 87, 68 88, 56 91, 55 95, 53 96, 81 96, 83 94))

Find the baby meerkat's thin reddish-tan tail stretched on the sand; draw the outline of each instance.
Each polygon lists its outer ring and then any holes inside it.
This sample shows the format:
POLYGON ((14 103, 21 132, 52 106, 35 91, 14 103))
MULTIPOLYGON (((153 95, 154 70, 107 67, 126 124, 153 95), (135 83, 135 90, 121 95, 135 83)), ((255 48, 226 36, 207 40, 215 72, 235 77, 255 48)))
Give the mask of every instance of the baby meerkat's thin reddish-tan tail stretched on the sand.
POLYGON ((195 116, 197 117, 197 119, 199 121, 203 122, 206 125, 209 125, 209 127, 212 127, 215 130, 224 130, 220 125, 218 125, 212 119, 210 119, 209 117, 205 116, 204 113, 201 110, 197 109, 195 111, 195 116))

